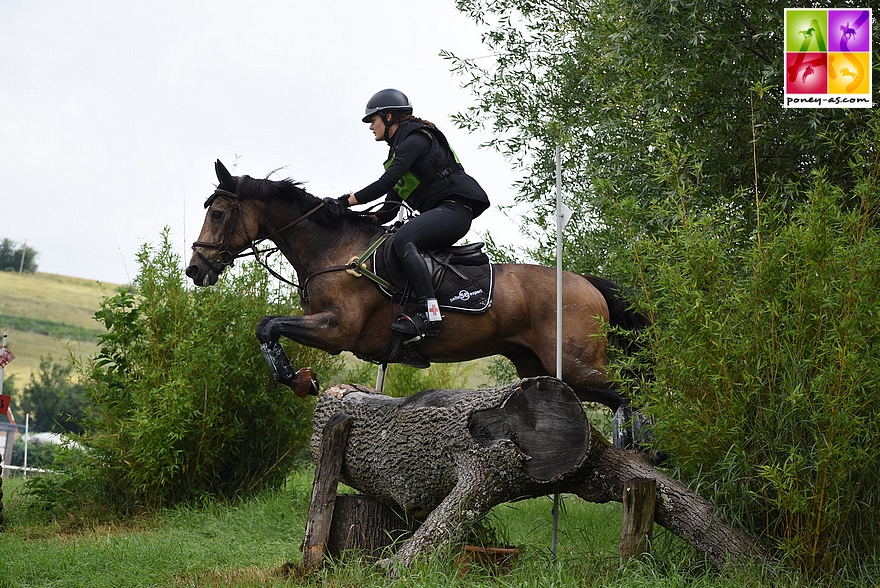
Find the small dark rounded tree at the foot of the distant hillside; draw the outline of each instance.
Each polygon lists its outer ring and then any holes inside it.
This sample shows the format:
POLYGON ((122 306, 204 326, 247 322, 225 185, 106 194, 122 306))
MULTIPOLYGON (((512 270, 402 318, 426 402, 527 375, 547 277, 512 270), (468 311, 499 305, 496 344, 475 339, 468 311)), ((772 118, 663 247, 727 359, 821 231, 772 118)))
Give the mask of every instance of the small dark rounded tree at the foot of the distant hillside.
POLYGON ((46 432, 83 431, 87 404, 85 390, 71 381, 73 366, 40 358, 40 371, 22 391, 21 406, 31 415, 31 429, 46 432))

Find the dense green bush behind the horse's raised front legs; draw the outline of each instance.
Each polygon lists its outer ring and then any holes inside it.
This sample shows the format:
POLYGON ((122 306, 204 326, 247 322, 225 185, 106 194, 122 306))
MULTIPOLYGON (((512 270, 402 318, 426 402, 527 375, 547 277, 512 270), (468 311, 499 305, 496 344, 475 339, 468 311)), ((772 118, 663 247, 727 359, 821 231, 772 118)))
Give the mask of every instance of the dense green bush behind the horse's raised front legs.
MULTIPOLYGON (((91 402, 84 452, 65 451, 57 476, 32 492, 60 509, 140 512, 278 487, 308 447, 314 400, 275 383, 255 327, 299 312, 259 265, 187 287, 168 231, 145 245, 133 291, 105 298, 98 356, 77 369, 91 402), (95 510, 95 509, 91 509, 95 510)), ((319 376, 341 362, 285 345, 319 376)))

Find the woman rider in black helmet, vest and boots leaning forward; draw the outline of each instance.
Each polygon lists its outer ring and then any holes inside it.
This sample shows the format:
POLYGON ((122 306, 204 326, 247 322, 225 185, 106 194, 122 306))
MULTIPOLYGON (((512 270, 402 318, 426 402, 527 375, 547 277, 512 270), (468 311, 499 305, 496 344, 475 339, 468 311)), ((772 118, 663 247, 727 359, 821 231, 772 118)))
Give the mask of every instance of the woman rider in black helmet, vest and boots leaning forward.
POLYGON ((437 127, 412 115, 403 92, 387 89, 367 102, 362 119, 376 141, 389 145, 385 173, 366 188, 339 201, 345 206, 372 202, 387 195, 375 214, 380 223, 392 220, 403 201, 419 215, 405 223, 394 238, 394 250, 412 284, 415 316, 401 314, 395 331, 419 340, 440 332, 440 311, 425 260, 419 251, 452 245, 467 234, 471 221, 489 207, 489 197, 464 172, 449 142, 437 127))

